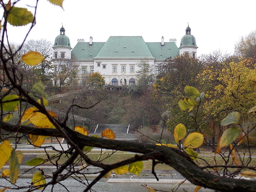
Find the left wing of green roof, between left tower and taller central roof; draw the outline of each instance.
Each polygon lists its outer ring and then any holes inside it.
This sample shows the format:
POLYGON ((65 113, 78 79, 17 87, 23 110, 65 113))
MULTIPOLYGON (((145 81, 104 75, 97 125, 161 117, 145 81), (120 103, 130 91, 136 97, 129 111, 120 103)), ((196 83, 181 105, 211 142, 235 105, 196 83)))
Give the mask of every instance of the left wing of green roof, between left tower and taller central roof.
POLYGON ((73 60, 93 61, 104 44, 105 42, 93 42, 92 45, 89 45, 89 42, 77 42, 71 51, 71 58, 73 60))

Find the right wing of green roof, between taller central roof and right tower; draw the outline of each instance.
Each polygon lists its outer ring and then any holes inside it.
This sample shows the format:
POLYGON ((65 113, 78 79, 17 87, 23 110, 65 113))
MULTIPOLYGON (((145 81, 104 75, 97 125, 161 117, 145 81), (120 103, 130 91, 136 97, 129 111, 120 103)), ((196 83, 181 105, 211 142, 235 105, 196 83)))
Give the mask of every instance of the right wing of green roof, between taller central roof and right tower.
POLYGON ((175 58, 179 55, 179 49, 175 42, 164 42, 164 45, 161 45, 160 42, 146 44, 157 61, 163 61, 168 57, 175 58))

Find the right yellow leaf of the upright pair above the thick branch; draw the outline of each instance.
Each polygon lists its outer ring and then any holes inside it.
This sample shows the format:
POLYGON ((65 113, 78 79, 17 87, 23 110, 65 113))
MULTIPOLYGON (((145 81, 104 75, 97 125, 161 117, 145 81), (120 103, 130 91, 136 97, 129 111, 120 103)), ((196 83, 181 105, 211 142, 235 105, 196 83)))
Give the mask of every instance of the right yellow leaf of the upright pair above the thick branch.
POLYGON ((203 134, 199 132, 192 132, 187 136, 183 145, 184 147, 198 148, 203 144, 203 134))

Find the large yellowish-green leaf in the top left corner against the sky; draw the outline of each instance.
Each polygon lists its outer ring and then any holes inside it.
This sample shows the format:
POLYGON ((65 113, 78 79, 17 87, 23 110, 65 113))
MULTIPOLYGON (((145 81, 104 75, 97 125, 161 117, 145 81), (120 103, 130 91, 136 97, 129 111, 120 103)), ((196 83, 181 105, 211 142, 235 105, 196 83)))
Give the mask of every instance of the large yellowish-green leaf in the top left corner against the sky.
POLYGON ((33 14, 26 8, 12 7, 7 21, 13 26, 24 26, 33 22, 33 14))

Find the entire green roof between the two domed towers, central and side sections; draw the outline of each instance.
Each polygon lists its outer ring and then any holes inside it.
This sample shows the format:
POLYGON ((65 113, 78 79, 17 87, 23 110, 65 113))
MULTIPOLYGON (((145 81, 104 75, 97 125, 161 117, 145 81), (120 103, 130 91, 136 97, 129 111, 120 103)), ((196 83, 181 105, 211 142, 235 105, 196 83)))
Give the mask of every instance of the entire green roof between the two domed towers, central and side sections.
POLYGON ((174 42, 145 43, 142 36, 110 36, 107 42, 78 41, 71 50, 71 58, 79 61, 94 59, 156 59, 163 61, 168 57, 175 58, 179 49, 174 42))

